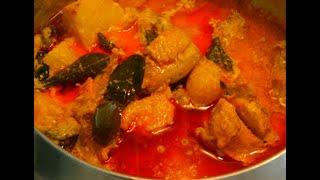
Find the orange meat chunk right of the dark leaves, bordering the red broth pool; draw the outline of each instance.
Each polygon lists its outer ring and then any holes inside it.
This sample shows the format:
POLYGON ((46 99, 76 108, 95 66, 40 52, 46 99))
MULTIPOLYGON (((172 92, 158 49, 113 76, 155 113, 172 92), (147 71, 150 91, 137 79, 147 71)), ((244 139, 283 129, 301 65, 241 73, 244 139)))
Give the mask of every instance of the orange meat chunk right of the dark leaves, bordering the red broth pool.
POLYGON ((156 132, 173 124, 174 105, 168 93, 157 92, 141 100, 131 102, 122 113, 121 128, 133 127, 142 133, 156 132))

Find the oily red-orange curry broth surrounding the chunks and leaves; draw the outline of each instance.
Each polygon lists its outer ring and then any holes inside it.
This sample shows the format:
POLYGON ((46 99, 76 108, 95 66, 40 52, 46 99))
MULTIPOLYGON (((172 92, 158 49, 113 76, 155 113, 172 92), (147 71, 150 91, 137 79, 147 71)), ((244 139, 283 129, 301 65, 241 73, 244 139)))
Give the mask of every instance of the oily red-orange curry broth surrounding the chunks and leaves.
MULTIPOLYGON (((272 20, 268 20, 266 16, 256 16, 256 14, 261 14, 258 10, 248 9, 245 5, 239 6, 235 2, 238 1, 199 0, 191 10, 176 12, 170 21, 186 33, 198 47, 201 55, 205 55, 214 31, 210 25, 212 18, 223 21, 232 13, 232 8, 237 9, 244 18, 247 26, 245 38, 231 41, 226 47, 226 51, 236 61, 243 79, 254 87, 261 105, 271 112, 271 125, 279 136, 279 141, 255 157, 255 161, 251 163, 253 165, 280 152, 286 145, 285 110, 270 97, 269 93, 272 89, 271 59, 275 54, 273 47, 278 41, 284 39, 285 32, 283 28, 272 20)), ((174 8, 177 1, 165 0, 159 3, 157 0, 119 0, 118 3, 124 7, 136 7, 140 10, 150 8, 161 13, 174 8)), ((139 41, 137 34, 136 23, 120 30, 116 29, 104 33, 108 39, 111 39, 124 51, 119 63, 137 51, 144 51, 144 46, 139 41)), ((89 52, 105 53, 98 45, 88 51, 78 42, 72 44, 72 49, 78 55, 85 55, 89 52)), ((67 107, 81 95, 81 91, 77 86, 70 86, 63 90, 57 86, 45 91, 44 94, 55 99, 63 107, 67 107)), ((84 158, 83 156, 86 155, 83 154, 86 154, 87 151, 81 148, 78 148, 77 151, 71 151, 71 153, 89 161, 89 163, 96 164, 96 161, 90 162, 90 159, 97 158, 100 165, 108 169, 143 177, 201 178, 234 172, 246 167, 228 156, 219 157, 210 153, 210 150, 195 135, 195 130, 210 118, 210 112, 216 102, 206 110, 188 110, 177 104, 175 100, 171 99, 170 101, 175 107, 174 123, 162 132, 148 135, 141 134, 138 130, 122 132, 117 141, 117 147, 109 152, 109 158, 101 158, 99 155, 90 153, 87 155, 88 157, 96 157, 84 158)), ((94 143, 92 138, 88 138, 86 141, 94 143)), ((87 144, 92 144, 90 142, 87 144)), ((98 149, 99 146, 96 148, 98 149)))

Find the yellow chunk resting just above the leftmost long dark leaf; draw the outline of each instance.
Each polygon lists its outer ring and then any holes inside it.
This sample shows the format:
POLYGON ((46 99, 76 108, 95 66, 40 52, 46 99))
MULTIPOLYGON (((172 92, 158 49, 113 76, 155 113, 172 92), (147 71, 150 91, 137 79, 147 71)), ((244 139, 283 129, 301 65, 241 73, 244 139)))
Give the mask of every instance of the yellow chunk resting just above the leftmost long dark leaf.
POLYGON ((67 38, 56 45, 44 58, 43 62, 50 67, 49 76, 76 61, 80 54, 73 50, 73 38, 67 38))

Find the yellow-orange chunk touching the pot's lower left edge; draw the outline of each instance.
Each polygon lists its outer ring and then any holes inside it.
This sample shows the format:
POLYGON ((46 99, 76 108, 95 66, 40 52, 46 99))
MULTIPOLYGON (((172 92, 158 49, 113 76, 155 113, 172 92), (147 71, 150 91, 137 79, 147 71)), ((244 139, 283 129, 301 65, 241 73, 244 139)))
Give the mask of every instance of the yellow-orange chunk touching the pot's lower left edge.
POLYGON ((65 140, 78 135, 80 125, 64 106, 47 93, 35 92, 35 127, 55 140, 65 140))

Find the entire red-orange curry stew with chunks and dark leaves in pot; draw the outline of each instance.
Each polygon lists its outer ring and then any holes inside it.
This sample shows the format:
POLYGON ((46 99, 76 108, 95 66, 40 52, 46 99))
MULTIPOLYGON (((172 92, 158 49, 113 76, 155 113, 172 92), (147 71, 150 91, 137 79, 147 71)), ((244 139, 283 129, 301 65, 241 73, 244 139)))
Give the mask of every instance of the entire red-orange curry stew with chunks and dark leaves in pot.
POLYGON ((249 1, 78 0, 34 72, 35 127, 101 168, 203 178, 285 148, 285 28, 249 1))

